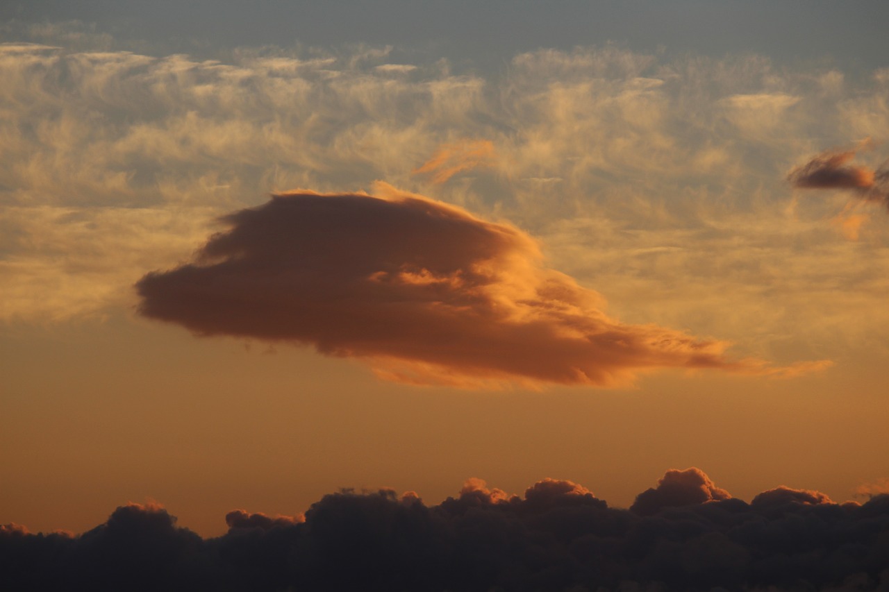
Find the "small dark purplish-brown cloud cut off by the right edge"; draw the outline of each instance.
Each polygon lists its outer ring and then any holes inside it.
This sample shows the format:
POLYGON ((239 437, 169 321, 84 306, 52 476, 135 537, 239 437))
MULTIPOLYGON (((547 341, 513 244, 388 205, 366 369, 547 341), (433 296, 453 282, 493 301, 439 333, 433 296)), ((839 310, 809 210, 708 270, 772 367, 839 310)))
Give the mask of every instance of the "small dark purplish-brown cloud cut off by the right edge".
POLYGON ((877 170, 850 161, 869 148, 868 140, 850 150, 828 150, 790 171, 788 180, 803 189, 848 189, 861 199, 889 207, 889 168, 877 170))

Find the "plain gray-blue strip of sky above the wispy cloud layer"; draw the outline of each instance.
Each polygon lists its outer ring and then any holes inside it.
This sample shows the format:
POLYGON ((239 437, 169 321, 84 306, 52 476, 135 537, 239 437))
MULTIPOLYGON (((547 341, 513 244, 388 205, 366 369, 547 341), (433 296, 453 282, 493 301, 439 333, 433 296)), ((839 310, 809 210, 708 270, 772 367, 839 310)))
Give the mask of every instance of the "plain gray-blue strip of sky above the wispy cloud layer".
MULTIPOLYGON (((517 52, 606 42, 634 51, 721 57, 756 52, 779 63, 852 69, 889 65, 889 3, 675 0, 653 2, 469 0, 297 2, 7 1, 0 20, 80 20, 119 38, 212 53, 237 45, 393 44, 447 57, 457 67, 498 68, 517 52)), ((416 56, 414 56, 416 59, 416 56)))

